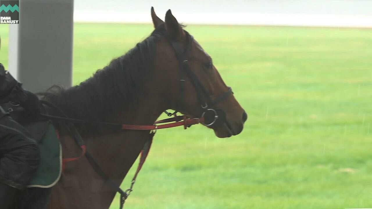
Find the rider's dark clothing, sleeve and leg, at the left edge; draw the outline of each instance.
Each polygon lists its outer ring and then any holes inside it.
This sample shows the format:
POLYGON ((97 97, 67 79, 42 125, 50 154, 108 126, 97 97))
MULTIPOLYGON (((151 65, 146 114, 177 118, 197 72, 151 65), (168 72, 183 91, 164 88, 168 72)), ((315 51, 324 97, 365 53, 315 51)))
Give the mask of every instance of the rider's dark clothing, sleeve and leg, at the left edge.
MULTIPOLYGON (((40 112, 35 94, 22 89, 0 64, 0 205, 7 209, 17 190, 25 189, 39 165, 39 148, 28 131, 12 118, 13 108, 4 103, 23 107, 25 114, 40 112), (10 113, 9 113, 10 112, 10 113)), ((23 114, 23 113, 22 113, 23 114)))

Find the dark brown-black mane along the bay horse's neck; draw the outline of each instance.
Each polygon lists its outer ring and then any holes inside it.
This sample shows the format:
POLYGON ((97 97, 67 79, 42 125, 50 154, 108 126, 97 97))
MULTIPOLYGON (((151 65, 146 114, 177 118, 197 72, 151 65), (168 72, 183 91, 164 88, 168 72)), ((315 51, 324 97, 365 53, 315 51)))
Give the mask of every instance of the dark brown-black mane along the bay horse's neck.
MULTIPOLYGON (((65 89, 54 85, 45 93, 39 93, 59 107, 68 117, 102 122, 123 104, 133 103, 144 83, 154 71, 155 44, 164 35, 165 26, 158 26, 150 36, 138 43, 109 65, 97 70, 92 77, 77 86, 65 89)), ((53 115, 59 115, 52 112, 53 115)))

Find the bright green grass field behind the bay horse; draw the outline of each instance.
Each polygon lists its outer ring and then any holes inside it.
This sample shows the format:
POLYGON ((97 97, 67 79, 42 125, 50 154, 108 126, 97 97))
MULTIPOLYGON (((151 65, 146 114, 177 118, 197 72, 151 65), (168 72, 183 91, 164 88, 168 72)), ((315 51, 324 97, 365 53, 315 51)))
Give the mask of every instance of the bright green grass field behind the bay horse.
MULTIPOLYGON (((5 65, 7 30, 0 25, 5 65)), ((74 83, 151 30, 76 23, 74 83)), ((248 120, 227 139, 202 126, 158 131, 126 208, 372 208, 371 29, 186 30, 212 56, 248 120)))

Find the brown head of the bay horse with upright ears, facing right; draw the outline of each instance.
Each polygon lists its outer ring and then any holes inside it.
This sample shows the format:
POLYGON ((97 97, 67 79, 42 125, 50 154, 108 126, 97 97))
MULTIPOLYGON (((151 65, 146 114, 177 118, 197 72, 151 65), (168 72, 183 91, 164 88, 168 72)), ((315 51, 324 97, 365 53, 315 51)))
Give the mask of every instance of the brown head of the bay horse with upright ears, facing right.
MULTIPOLYGON (((237 135, 243 130, 247 113, 226 86, 211 56, 168 10, 165 22, 151 8, 154 32, 161 33, 155 56, 155 71, 167 82, 169 109, 190 118, 203 117, 204 125, 219 138, 237 135)), ((169 114, 170 115, 170 114, 169 114)))

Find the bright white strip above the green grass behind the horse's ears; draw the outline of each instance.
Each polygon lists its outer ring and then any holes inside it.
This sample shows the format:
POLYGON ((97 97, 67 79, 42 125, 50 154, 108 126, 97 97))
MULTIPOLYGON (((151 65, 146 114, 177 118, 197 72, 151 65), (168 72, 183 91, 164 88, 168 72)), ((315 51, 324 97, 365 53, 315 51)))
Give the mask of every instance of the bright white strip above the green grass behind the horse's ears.
POLYGON ((74 21, 150 23, 151 6, 186 24, 372 28, 372 0, 75 0, 74 21))

